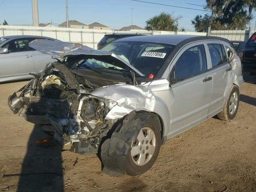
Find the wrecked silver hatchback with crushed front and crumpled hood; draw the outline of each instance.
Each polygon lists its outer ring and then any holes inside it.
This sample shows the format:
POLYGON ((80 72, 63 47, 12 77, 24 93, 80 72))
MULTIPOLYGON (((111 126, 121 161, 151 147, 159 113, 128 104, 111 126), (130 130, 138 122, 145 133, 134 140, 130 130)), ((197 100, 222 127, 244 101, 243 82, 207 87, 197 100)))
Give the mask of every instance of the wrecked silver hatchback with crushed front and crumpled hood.
POLYGON ((49 40, 30 46, 58 61, 12 94, 10 109, 71 151, 98 154, 111 176, 146 172, 166 140, 238 110, 241 62, 224 38, 135 36, 102 50, 49 40))

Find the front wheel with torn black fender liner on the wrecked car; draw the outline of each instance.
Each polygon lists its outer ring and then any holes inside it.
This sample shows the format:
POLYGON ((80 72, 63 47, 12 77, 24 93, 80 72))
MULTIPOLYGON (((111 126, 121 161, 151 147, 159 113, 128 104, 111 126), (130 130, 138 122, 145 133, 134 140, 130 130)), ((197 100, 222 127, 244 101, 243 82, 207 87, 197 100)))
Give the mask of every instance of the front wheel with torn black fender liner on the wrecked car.
POLYGON ((161 123, 157 115, 131 112, 101 146, 102 172, 132 176, 149 170, 161 146, 161 123))

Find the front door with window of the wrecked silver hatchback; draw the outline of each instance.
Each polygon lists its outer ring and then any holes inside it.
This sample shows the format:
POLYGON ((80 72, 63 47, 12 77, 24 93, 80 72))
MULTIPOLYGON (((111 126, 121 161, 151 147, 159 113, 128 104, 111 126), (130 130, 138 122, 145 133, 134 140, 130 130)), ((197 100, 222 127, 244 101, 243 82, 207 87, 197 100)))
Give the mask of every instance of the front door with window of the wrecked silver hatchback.
POLYGON ((186 46, 174 60, 170 73, 174 104, 171 136, 208 118, 212 93, 212 72, 207 66, 204 44, 186 46))

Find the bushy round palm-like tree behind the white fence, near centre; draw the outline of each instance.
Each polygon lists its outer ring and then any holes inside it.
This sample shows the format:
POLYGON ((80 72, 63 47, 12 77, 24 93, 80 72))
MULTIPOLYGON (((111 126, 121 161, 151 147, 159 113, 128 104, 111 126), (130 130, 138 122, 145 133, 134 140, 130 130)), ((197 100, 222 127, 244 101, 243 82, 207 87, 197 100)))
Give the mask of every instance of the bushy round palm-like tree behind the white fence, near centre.
POLYGON ((158 16, 154 16, 146 21, 146 30, 157 31, 177 31, 178 20, 181 16, 173 17, 171 14, 162 12, 158 16))

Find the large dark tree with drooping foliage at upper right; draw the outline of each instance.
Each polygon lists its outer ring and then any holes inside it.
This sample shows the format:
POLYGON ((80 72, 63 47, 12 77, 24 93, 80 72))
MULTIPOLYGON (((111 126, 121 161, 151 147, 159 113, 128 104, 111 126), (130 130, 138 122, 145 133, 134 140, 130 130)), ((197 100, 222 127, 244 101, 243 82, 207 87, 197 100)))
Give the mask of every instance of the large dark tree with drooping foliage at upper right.
POLYGON ((205 32, 209 25, 212 30, 244 30, 252 20, 256 0, 206 0, 205 8, 212 10, 212 16, 197 15, 191 20, 196 31, 205 32))

